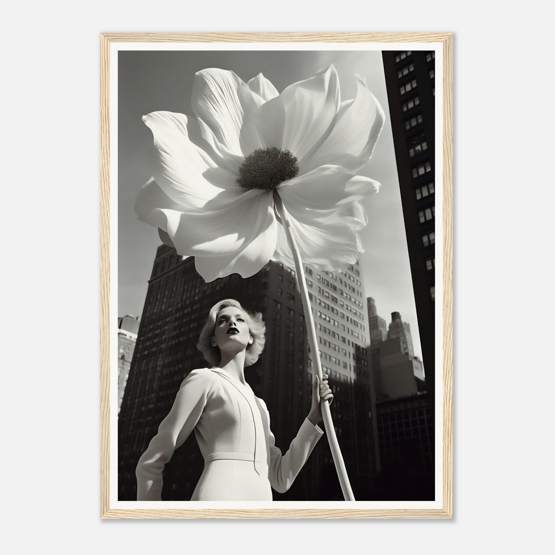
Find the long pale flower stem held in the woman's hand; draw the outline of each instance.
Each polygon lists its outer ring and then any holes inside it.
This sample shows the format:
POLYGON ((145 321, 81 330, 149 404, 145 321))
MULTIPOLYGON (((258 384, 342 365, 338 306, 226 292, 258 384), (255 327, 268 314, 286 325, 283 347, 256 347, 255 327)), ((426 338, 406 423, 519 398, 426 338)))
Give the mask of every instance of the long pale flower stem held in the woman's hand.
MULTIPOLYGON (((309 292, 306 288, 306 279, 304 266, 302 265, 301 256, 299 249, 297 249, 297 243, 295 237, 291 233, 291 223, 289 221, 289 214, 281 201, 281 197, 277 190, 274 189, 274 206, 276 212, 281 218, 281 225, 285 231, 287 237, 287 243, 291 248, 293 254, 293 260, 295 260, 296 269, 296 280, 299 285, 299 290, 301 292, 302 306, 305 312, 305 321, 308 324, 308 339, 310 345, 310 351, 312 355, 312 364, 315 366, 316 372, 322 381, 322 364, 320 362, 320 352, 318 350, 318 342, 316 340, 316 327, 314 325, 314 318, 312 317, 312 308, 310 305, 309 292)), ((320 401, 322 409, 322 417, 324 418, 324 426, 326 428, 327 440, 330 443, 331 456, 334 458, 335 470, 337 472, 337 477, 339 478, 339 483, 341 485, 341 491, 345 497, 345 501, 355 501, 355 496, 351 490, 351 484, 349 482, 349 476, 347 476, 347 470, 345 468, 345 462, 343 461, 343 456, 341 455, 341 450, 339 448, 339 443, 337 442, 337 436, 335 435, 334 423, 331 420, 330 403, 327 401, 320 401)))

